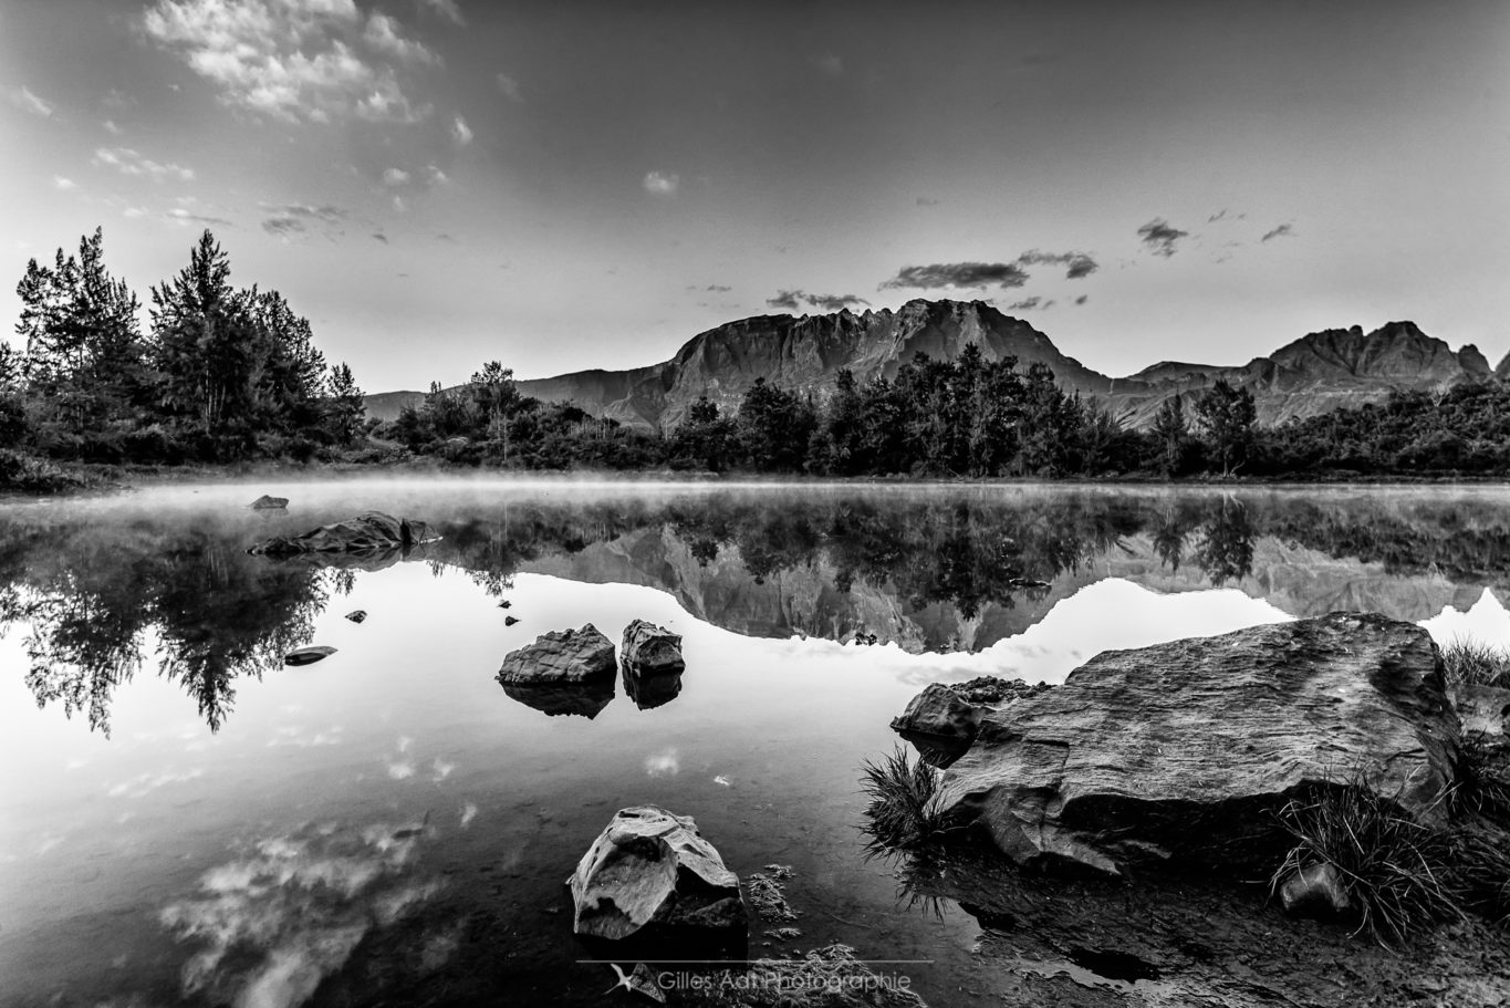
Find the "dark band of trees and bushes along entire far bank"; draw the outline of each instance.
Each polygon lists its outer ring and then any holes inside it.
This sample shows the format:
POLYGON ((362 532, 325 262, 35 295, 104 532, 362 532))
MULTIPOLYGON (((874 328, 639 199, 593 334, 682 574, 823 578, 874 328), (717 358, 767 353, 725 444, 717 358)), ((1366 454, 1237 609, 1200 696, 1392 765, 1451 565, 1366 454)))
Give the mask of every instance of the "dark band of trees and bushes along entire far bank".
POLYGON ((693 404, 642 431, 519 393, 500 361, 432 384, 388 423, 362 411, 275 290, 236 289, 205 231, 189 264, 140 299, 104 266, 101 231, 32 260, 17 293, 21 349, 0 345, 0 490, 89 482, 88 467, 249 459, 524 470, 829 478, 1336 479, 1510 476, 1510 387, 1400 393, 1380 405, 1259 428, 1253 396, 1219 381, 1173 396, 1148 431, 1065 393, 1043 364, 918 355, 891 379, 797 393, 757 381, 732 410, 693 404))

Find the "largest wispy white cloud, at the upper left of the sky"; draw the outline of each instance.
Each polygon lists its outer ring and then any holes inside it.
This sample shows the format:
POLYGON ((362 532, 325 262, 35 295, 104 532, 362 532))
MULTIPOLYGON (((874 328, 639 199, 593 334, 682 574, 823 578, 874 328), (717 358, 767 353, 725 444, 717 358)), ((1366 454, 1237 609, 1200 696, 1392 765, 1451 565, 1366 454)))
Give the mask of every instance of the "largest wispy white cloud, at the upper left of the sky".
POLYGON ((353 0, 157 0, 140 24, 233 107, 290 122, 346 113, 415 122, 430 112, 409 101, 393 66, 364 59, 358 47, 400 63, 435 54, 387 15, 364 21, 353 0))

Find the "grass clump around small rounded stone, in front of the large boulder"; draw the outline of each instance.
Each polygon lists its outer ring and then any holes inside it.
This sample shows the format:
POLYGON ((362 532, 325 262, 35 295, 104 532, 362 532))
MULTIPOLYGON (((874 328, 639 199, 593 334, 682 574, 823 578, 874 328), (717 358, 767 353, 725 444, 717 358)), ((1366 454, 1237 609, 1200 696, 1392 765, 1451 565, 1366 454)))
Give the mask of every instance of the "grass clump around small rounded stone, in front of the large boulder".
POLYGON ((1291 872, 1332 864, 1357 910, 1354 934, 1368 931, 1385 946, 1444 920, 1466 916, 1457 851, 1444 830, 1409 818, 1362 781, 1332 784, 1294 799, 1279 813, 1296 840, 1270 880, 1277 889, 1291 872))

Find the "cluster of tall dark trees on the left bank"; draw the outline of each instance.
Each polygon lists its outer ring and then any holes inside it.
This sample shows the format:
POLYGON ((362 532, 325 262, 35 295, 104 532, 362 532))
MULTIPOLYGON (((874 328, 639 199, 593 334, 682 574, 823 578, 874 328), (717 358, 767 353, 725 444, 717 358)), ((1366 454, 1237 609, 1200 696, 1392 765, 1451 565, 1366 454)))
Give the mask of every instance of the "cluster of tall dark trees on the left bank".
POLYGON ((104 264, 104 233, 17 284, 18 348, 0 345, 0 444, 95 462, 313 458, 364 428, 350 367, 328 366, 276 290, 231 286, 210 231, 140 299, 104 264))

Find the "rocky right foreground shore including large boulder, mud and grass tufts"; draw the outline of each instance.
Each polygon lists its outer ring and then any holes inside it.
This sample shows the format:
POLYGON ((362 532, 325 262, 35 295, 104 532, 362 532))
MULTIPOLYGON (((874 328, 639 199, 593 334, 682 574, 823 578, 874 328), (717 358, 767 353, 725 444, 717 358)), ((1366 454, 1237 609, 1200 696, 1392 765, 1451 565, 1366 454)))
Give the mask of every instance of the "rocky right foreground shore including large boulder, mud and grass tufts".
POLYGON ((1504 653, 1336 612, 929 686, 892 727, 918 754, 862 768, 871 849, 1024 997, 1510 996, 1504 653))

